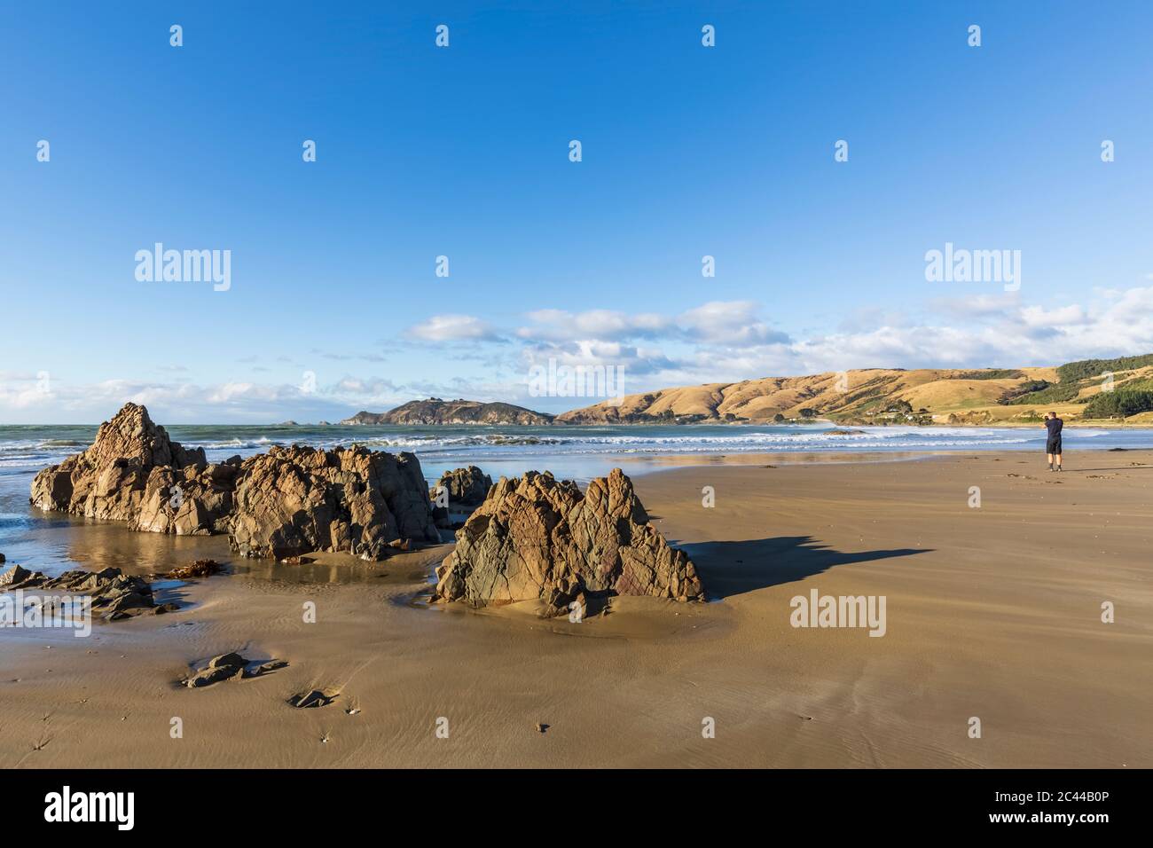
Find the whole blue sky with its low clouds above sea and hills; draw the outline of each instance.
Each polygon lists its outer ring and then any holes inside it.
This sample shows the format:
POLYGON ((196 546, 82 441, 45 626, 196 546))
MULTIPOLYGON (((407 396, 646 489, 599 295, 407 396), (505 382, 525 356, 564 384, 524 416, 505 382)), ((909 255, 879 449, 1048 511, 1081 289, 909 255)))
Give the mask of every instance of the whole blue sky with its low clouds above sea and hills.
POLYGON ((1150 3, 0 16, 0 422, 585 405, 529 396, 549 359, 643 391, 1153 351, 1150 3), (228 291, 137 280, 158 241, 231 250, 228 291), (927 282, 945 242, 1020 250, 1019 291, 927 282))

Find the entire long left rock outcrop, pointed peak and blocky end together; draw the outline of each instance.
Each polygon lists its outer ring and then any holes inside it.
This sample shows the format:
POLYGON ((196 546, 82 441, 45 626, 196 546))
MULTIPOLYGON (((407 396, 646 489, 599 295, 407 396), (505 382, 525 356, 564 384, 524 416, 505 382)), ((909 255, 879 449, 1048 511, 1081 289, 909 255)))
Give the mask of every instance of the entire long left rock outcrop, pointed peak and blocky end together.
POLYGON ((342 550, 379 560, 405 540, 439 541, 412 453, 293 445, 210 464, 136 404, 100 425, 86 451, 37 474, 30 500, 143 532, 227 532, 246 556, 342 550))

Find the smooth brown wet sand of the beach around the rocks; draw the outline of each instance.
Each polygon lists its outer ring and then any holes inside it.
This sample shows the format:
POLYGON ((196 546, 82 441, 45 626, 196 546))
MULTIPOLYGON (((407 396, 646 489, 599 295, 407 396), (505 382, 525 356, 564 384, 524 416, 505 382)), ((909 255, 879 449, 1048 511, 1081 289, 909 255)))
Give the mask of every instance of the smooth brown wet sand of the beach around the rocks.
MULTIPOLYGON (((613 599, 581 623, 533 605, 424 607, 440 546, 375 565, 235 563, 164 590, 180 611, 86 639, 7 630, 0 766, 1150 767, 1153 452, 1070 456, 1060 475, 1038 459, 768 458, 635 478, 696 563, 703 605, 613 599), (886 635, 791 626, 790 600, 813 588, 884 595, 886 635), (291 665, 174 684, 234 650, 291 665), (340 696, 287 704, 309 689, 340 696)), ((68 533, 93 568, 227 560, 223 539, 68 533)))

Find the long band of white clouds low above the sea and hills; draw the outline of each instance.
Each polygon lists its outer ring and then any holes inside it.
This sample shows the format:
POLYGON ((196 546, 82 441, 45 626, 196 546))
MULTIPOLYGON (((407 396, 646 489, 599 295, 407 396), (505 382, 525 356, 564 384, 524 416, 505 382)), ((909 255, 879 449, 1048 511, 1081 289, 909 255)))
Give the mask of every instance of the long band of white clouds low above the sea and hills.
MULTIPOLYGON (((127 400, 148 405, 157 420, 168 422, 336 420, 352 410, 384 410, 432 395, 526 402, 530 367, 549 359, 623 367, 632 392, 847 368, 1058 365, 1153 352, 1153 286, 1099 287, 1092 294, 1085 303, 1045 306, 987 295, 935 302, 950 316, 967 314, 965 321, 942 321, 940 314, 904 321, 898 313, 866 312, 836 332, 802 339, 769 328, 753 301, 711 301, 676 315, 538 310, 515 332, 515 346, 480 318, 438 315, 410 336, 477 343, 459 358, 460 370, 440 381, 419 370, 406 373, 402 382, 349 374, 306 393, 291 382, 198 385, 123 378, 76 385, 58 375, 45 384, 39 373, 7 372, 0 373, 0 421, 95 422, 127 400), (481 344, 490 342, 497 344, 481 344)), ((564 408, 572 405, 578 404, 564 408)))

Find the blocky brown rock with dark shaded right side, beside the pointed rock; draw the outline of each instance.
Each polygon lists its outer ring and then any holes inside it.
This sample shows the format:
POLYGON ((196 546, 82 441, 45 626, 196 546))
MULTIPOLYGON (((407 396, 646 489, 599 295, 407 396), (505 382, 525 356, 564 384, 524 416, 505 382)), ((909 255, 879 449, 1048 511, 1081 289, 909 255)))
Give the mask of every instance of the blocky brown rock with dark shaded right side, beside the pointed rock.
POLYGON ((277 560, 317 550, 383 560, 394 542, 440 539, 420 460, 360 446, 292 445, 246 459, 229 534, 242 556, 277 560))

